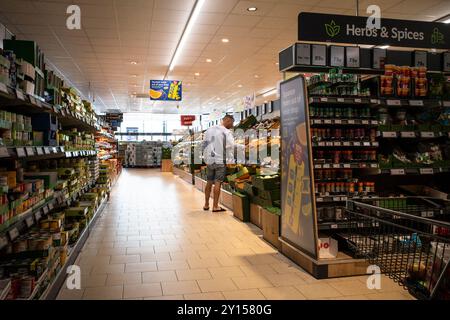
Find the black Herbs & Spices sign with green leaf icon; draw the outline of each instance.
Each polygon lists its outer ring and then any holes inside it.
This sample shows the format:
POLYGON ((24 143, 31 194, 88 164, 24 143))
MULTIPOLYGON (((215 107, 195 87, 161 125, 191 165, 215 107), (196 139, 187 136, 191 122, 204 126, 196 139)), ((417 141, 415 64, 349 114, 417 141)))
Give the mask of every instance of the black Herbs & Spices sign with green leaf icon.
POLYGON ((367 17, 301 12, 298 40, 448 49, 450 24, 382 18, 380 29, 369 29, 367 17))

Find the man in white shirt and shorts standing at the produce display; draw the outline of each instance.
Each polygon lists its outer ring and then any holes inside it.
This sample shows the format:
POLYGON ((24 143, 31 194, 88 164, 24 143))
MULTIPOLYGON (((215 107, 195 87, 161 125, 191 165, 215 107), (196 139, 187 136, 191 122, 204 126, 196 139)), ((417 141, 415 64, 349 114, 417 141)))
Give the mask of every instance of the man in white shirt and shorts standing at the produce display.
POLYGON ((209 199, 213 192, 213 212, 223 212, 219 206, 220 190, 226 175, 226 164, 234 161, 234 137, 230 129, 233 128, 234 118, 226 115, 220 125, 209 128, 205 133, 203 155, 207 164, 208 182, 205 189, 205 205, 203 210, 209 210, 209 199))

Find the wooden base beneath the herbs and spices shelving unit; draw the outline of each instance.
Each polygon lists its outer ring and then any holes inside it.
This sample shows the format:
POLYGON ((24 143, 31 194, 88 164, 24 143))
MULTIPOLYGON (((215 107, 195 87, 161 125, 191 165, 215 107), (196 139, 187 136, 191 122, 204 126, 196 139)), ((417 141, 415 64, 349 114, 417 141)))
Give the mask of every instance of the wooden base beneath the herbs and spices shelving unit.
POLYGON ((362 259, 353 259, 345 253, 339 252, 335 259, 311 258, 298 250, 283 238, 279 238, 281 253, 294 261, 316 279, 339 278, 366 275, 369 263, 362 259))

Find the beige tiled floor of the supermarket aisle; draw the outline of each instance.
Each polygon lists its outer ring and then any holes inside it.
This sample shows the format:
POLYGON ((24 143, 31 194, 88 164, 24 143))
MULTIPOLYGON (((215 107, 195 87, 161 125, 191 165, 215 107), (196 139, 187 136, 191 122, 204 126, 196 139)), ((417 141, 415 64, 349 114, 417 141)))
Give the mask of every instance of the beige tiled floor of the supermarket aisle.
POLYGON ((170 173, 124 170, 59 299, 412 299, 386 277, 316 280, 170 173))

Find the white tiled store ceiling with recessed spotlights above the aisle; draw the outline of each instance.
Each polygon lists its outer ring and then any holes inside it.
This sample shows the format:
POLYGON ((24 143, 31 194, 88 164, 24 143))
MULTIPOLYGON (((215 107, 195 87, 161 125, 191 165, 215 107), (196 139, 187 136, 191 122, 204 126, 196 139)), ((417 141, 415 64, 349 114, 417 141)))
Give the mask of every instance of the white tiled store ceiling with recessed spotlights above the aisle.
MULTIPOLYGON (((0 22, 19 39, 37 41, 52 67, 85 97, 94 95, 98 112, 202 113, 276 87, 278 52, 296 41, 299 12, 356 13, 355 0, 206 0, 168 75, 183 81, 183 102, 177 107, 131 98, 166 74, 194 2, 0 0, 0 22), (74 3, 81 7, 82 29, 71 31, 66 8, 74 3), (250 6, 258 10, 248 12, 250 6)), ((360 0, 359 14, 370 4, 386 18, 432 21, 450 13, 449 0, 360 0)))

